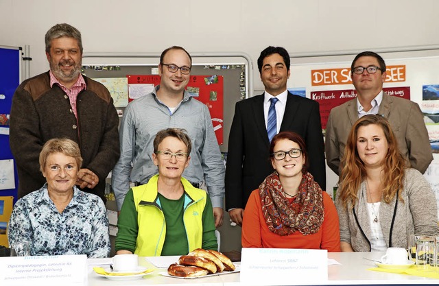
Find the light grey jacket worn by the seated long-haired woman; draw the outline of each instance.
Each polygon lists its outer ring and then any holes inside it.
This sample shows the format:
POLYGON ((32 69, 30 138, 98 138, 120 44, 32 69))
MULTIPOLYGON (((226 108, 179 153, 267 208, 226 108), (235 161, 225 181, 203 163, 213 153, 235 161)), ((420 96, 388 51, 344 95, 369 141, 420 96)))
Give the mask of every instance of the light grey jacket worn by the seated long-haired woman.
MULTIPOLYGON (((352 209, 335 201, 340 221, 340 241, 351 243, 354 251, 370 251, 370 222, 364 181, 358 190, 358 200, 352 209)), ((436 196, 429 183, 416 169, 406 169, 404 187, 400 190, 404 202, 393 198, 390 204, 381 200, 379 223, 388 247, 407 248, 411 234, 439 235, 436 196)))

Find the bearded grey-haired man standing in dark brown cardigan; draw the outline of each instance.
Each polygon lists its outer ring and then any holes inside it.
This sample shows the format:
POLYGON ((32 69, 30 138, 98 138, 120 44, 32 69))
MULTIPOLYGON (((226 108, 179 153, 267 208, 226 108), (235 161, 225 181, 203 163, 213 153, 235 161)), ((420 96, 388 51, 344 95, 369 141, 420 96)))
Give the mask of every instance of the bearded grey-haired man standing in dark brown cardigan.
POLYGON ((45 45, 50 71, 25 80, 12 97, 10 148, 19 173, 19 198, 43 187, 46 180, 38 156, 46 141, 58 137, 80 146, 78 187, 105 202, 105 178, 119 158, 116 108, 104 85, 80 73, 83 49, 78 29, 54 25, 45 45))

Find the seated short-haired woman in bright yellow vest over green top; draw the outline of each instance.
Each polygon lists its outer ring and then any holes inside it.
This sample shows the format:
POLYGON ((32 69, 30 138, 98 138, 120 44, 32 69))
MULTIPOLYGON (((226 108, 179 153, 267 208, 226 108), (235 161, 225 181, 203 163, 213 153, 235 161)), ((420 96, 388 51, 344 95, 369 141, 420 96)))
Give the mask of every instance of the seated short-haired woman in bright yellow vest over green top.
POLYGON ((117 254, 182 255, 195 248, 217 250, 212 203, 206 191, 182 178, 191 157, 182 129, 161 130, 152 160, 158 174, 132 187, 117 222, 117 254))

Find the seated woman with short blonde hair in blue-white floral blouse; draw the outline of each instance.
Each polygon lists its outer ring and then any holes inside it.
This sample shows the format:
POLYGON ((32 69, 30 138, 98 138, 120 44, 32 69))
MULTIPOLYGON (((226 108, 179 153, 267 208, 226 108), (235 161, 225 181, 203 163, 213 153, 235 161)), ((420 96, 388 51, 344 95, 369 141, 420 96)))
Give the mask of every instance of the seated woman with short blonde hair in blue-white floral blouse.
POLYGON ((45 143, 40 171, 47 183, 16 202, 8 226, 10 244, 29 241, 31 255, 108 256, 104 202, 75 186, 81 164, 80 148, 70 139, 45 143))

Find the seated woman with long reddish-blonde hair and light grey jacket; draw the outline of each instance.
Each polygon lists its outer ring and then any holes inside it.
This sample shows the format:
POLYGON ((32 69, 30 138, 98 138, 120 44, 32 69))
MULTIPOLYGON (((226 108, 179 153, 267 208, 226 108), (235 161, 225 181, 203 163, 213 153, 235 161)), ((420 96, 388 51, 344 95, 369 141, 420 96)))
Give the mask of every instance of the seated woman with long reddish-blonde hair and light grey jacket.
POLYGON ((407 167, 389 122, 357 120, 346 141, 337 206, 342 251, 407 248, 410 234, 438 235, 436 197, 407 167))

